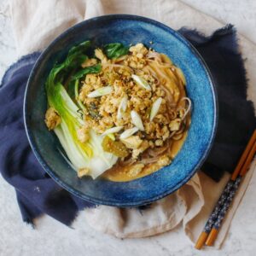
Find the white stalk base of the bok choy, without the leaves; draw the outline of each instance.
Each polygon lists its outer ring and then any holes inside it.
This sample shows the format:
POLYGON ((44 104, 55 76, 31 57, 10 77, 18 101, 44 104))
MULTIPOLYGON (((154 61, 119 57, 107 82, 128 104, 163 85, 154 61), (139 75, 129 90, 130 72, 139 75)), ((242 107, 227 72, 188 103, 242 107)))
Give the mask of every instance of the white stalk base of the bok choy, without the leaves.
POLYGON ((77 130, 84 124, 84 120, 79 116, 79 108, 62 85, 60 85, 60 99, 64 103, 61 112, 60 107, 51 106, 61 115, 61 124, 55 127, 55 134, 75 169, 78 171, 80 168, 89 168, 89 175, 96 178, 111 168, 118 157, 103 150, 103 137, 96 135, 95 131, 90 130, 89 141, 81 143, 77 137, 77 130))

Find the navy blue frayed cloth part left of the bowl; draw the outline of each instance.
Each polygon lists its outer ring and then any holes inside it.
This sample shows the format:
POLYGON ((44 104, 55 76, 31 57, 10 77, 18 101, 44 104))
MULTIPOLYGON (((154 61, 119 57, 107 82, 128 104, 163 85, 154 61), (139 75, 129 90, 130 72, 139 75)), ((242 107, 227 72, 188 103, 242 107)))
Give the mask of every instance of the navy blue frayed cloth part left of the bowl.
POLYGON ((71 224, 77 212, 94 206, 69 194, 44 172, 32 153, 23 123, 26 82, 39 53, 26 55, 9 68, 0 89, 0 172, 15 187, 22 218, 46 213, 71 224))

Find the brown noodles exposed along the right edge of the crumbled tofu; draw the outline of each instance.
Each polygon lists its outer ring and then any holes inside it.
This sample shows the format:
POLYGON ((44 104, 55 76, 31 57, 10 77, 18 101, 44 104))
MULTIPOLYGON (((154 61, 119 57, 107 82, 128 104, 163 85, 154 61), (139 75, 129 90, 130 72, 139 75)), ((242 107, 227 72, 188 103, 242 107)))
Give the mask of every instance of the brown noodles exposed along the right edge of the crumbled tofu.
MULTIPOLYGON (((148 148, 146 151, 141 154, 139 159, 134 160, 131 157, 126 160, 119 160, 118 163, 109 170, 108 173, 114 174, 119 170, 119 168, 125 167, 125 173, 129 172, 131 166, 137 164, 143 164, 148 166, 146 169, 147 174, 150 173, 150 165, 157 165, 161 156, 169 155, 172 156, 172 147, 175 143, 181 143, 182 139, 185 137, 187 130, 187 119, 189 119, 189 112, 191 110, 191 101, 186 96, 184 90, 184 79, 181 71, 177 73, 177 68, 173 66, 172 61, 166 56, 159 54, 154 51, 148 53, 147 63, 143 67, 142 71, 137 71, 138 73, 147 73, 154 78, 154 83, 156 86, 159 86, 165 92, 166 100, 166 114, 168 119, 175 120, 177 119, 177 114, 182 113, 181 125, 177 131, 171 131, 169 139, 164 143, 160 148, 148 148), (187 107, 186 107, 187 106, 187 107)), ((114 63, 124 63, 125 57, 114 61, 114 63)), ((127 68, 122 64, 105 64, 104 67, 115 67, 115 68, 127 68)), ((130 68, 128 68, 130 69, 130 68)), ((178 148, 178 147, 177 147, 178 148)), ((178 149, 176 148, 176 151, 178 149)), ((152 168, 154 170, 155 168, 152 168)), ((143 174, 141 174, 143 176, 143 174)), ((114 176, 112 177, 114 180, 114 176)))

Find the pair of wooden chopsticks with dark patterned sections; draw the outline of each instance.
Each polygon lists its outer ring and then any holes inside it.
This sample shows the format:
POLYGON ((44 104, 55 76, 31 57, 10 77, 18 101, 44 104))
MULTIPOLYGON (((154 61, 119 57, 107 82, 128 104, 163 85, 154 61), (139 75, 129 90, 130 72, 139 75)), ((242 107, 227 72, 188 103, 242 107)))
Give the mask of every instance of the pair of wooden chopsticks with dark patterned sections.
POLYGON ((235 171, 230 177, 229 182, 226 184, 224 191, 220 195, 217 204, 212 210, 210 217, 207 220, 207 224, 204 230, 201 232, 198 240, 195 243, 196 249, 201 249, 204 244, 207 246, 212 246, 215 239, 218 236, 218 230, 222 224, 224 216, 228 211, 230 204, 236 195, 236 190, 238 189, 241 178, 246 174, 248 167, 253 160, 253 156, 256 152, 256 130, 253 132, 253 136, 247 143, 241 158, 236 166, 235 171))

